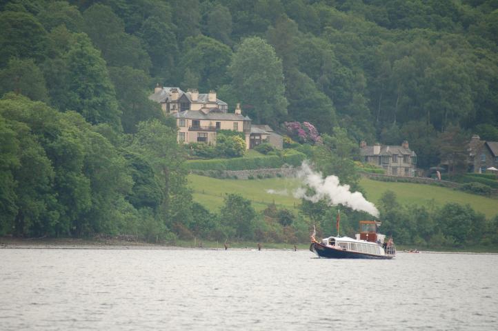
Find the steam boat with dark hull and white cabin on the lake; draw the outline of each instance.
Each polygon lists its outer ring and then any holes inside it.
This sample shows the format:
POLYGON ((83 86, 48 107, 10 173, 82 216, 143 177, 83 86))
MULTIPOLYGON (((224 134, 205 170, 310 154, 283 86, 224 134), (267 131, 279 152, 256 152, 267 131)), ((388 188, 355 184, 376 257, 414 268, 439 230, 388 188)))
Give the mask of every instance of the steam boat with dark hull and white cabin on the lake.
MULTIPOLYGON (((339 237, 338 234, 337 237, 327 237, 317 241, 315 231, 313 231, 310 251, 318 257, 328 259, 392 259, 395 257, 396 248, 392 238, 386 241, 385 234, 377 233, 381 222, 360 221, 359 223, 360 232, 356 234, 355 239, 339 237)), ((339 221, 337 224, 339 228, 339 221)))

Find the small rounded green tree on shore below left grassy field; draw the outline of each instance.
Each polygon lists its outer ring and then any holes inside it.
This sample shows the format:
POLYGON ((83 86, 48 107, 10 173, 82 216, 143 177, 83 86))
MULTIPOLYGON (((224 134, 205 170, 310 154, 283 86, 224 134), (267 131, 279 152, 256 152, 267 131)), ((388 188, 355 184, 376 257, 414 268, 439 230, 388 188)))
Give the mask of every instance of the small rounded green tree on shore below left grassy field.
POLYGON ((252 221, 256 217, 256 212, 250 200, 243 198, 239 194, 228 194, 223 199, 223 206, 220 210, 221 223, 235 228, 238 238, 250 238, 252 221))

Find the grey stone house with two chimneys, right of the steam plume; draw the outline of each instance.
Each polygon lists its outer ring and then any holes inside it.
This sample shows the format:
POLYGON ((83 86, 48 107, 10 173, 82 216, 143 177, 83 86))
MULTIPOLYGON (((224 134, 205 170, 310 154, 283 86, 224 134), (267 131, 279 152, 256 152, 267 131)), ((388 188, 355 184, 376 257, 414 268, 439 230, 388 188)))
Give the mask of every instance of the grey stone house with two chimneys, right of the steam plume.
POLYGON ((376 143, 367 146, 361 141, 360 155, 362 161, 384 168, 386 174, 392 176, 413 177, 417 165, 417 154, 410 150, 408 141, 403 141, 401 146, 384 146, 376 143))

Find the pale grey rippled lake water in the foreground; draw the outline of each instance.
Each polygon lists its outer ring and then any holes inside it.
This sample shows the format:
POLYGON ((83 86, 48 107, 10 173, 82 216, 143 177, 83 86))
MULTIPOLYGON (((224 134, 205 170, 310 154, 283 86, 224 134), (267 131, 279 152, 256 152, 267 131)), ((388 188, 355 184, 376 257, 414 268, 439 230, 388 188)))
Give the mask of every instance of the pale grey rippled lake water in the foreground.
POLYGON ((498 255, 0 249, 0 330, 497 330, 498 255))

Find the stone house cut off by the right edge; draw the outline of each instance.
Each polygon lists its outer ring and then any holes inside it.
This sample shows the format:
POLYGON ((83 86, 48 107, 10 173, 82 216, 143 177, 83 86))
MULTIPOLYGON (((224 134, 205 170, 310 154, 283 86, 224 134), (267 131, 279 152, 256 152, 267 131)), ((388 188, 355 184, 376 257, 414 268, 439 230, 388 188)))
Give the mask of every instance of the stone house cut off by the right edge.
POLYGON ((498 168, 498 141, 482 141, 474 134, 468 146, 470 172, 481 174, 488 168, 498 168))

